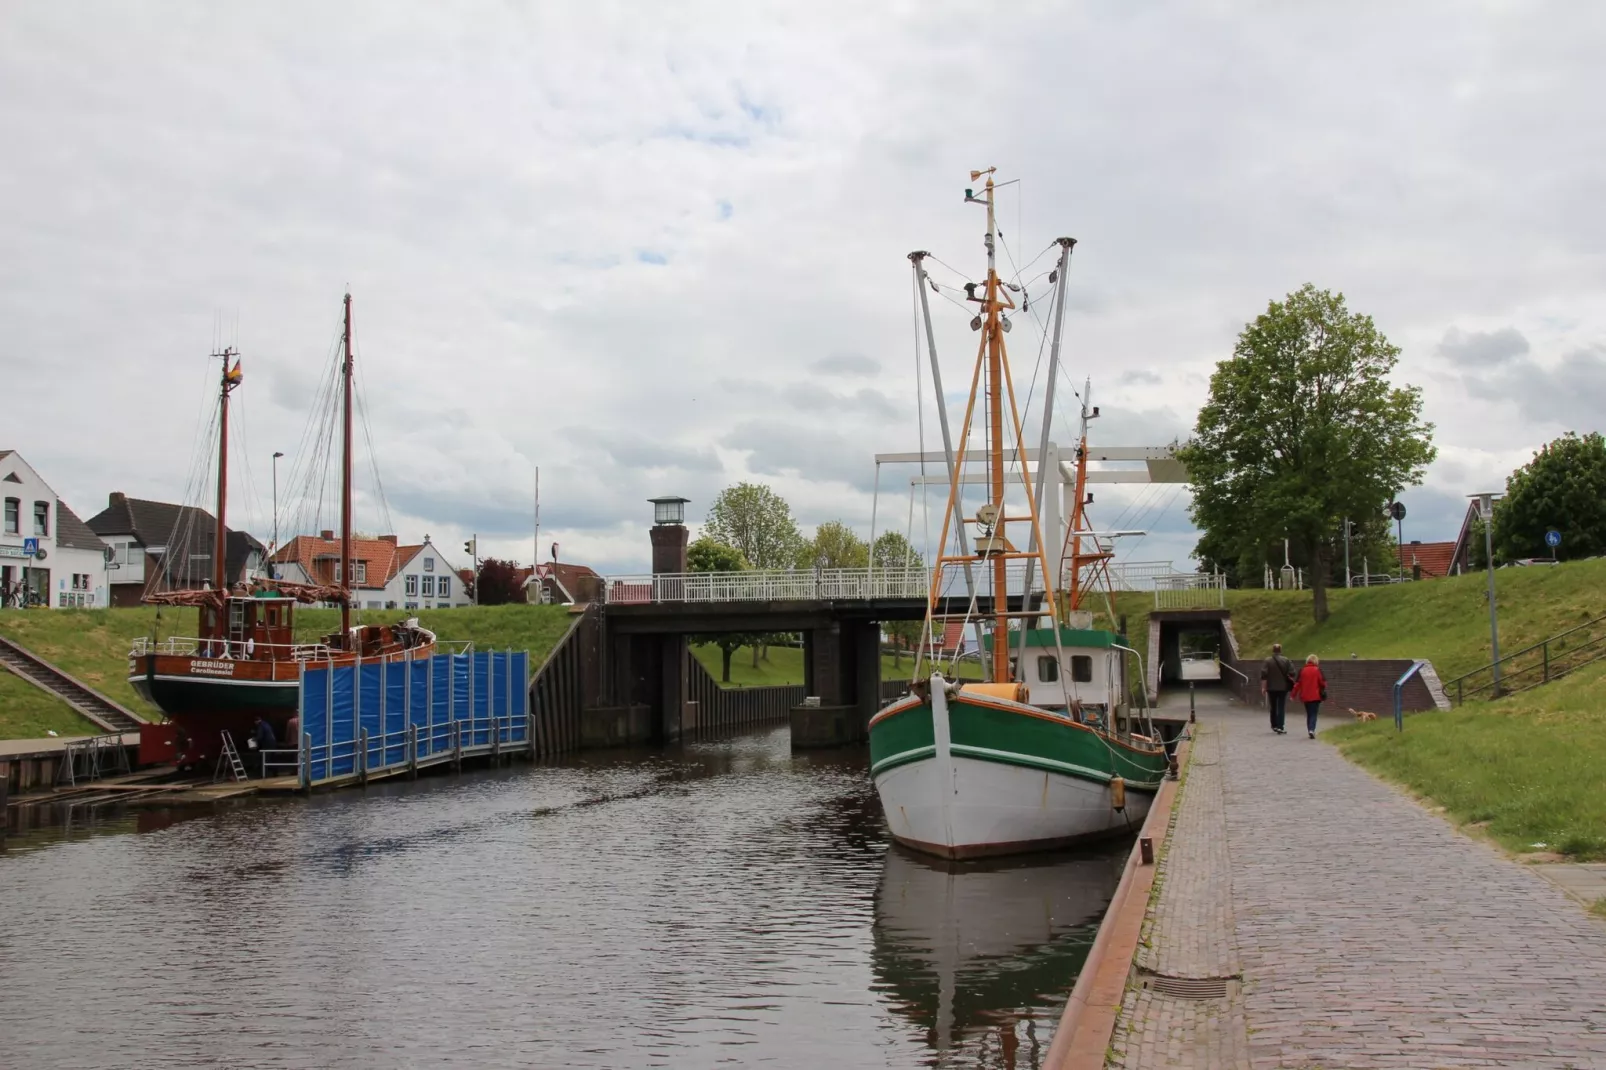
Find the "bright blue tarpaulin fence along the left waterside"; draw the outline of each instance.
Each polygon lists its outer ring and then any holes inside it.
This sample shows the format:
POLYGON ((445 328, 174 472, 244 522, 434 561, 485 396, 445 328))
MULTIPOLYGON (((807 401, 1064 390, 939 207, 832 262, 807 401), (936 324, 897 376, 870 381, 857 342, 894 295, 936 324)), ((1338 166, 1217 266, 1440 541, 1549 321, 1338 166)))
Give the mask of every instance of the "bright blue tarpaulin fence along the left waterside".
POLYGON ((300 684, 300 779, 313 786, 524 750, 528 672, 524 651, 308 665, 300 684))

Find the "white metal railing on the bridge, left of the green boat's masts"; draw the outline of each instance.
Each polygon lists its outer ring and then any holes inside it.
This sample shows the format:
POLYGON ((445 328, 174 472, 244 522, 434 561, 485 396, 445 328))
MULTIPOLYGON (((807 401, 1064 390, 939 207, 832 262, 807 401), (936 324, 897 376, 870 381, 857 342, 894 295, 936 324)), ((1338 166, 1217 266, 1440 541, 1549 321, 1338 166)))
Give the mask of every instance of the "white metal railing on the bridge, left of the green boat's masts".
POLYGON ((610 604, 846 601, 925 598, 930 586, 931 570, 925 567, 665 572, 609 577, 604 599, 610 604))

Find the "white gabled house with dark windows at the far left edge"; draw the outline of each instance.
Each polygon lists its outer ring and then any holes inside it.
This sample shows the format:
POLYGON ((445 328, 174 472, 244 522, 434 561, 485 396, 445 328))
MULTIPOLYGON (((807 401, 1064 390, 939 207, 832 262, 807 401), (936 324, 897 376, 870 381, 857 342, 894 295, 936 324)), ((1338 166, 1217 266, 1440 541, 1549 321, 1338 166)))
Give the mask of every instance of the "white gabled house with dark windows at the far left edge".
POLYGON ((106 543, 16 450, 0 450, 0 606, 108 606, 106 543))

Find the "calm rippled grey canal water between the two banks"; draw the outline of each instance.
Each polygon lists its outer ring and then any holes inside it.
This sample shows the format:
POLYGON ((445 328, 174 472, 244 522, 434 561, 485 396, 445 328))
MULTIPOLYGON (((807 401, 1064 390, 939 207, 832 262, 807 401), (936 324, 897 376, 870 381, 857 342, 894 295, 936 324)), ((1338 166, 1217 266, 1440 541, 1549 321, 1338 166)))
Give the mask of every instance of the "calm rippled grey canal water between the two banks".
POLYGON ((0 855, 0 1036, 51 1067, 1036 1067, 1124 847, 888 848, 787 731, 0 855))

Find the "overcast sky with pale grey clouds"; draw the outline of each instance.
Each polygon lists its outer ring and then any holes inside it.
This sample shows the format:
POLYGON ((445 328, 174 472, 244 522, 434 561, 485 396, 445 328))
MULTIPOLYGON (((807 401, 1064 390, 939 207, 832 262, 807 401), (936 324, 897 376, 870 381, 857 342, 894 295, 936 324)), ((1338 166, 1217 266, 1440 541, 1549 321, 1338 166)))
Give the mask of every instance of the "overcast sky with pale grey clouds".
MULTIPOLYGON (((867 533, 874 455, 919 440, 904 257, 980 278, 962 191, 997 165, 1017 262, 1079 239, 1100 442, 1185 434, 1243 323, 1314 281, 1426 389, 1407 538, 1453 538, 1463 495, 1606 429, 1603 45, 1600 5, 1463 0, 6 5, 0 448, 82 516, 178 500, 236 344, 231 508, 268 535, 283 450, 310 524, 350 289, 403 538, 528 561, 536 466, 543 546, 604 570, 646 569, 646 498, 700 519, 740 479, 867 533)), ((962 389, 968 313, 933 315, 962 389)), ((1025 392, 1036 325, 1010 341, 1025 392)), ((1185 496, 1099 508, 1187 559, 1185 496)))

